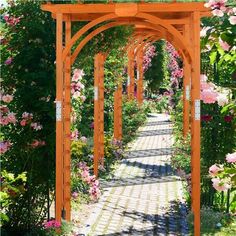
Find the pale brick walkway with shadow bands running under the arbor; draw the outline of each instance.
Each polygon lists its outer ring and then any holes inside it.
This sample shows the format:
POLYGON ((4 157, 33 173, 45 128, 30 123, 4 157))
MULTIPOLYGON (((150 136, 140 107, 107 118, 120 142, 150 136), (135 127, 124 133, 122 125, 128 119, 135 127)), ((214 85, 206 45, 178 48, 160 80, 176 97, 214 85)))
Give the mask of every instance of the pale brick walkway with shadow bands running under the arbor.
POLYGON ((80 233, 86 236, 188 235, 182 182, 170 167, 172 124, 151 114, 80 233))

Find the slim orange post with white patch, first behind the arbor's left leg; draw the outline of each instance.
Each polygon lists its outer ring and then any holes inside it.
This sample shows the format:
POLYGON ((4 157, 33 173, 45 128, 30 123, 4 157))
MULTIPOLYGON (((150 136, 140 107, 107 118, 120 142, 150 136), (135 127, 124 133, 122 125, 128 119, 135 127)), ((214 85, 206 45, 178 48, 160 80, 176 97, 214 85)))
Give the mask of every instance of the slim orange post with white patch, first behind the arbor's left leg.
POLYGON ((94 58, 94 175, 98 176, 99 165, 99 54, 94 58))

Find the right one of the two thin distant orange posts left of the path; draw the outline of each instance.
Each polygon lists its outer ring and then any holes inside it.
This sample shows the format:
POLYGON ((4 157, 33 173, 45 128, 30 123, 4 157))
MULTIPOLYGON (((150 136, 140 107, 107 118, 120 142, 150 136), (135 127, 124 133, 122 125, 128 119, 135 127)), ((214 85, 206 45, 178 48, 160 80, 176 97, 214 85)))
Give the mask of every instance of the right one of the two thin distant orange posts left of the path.
POLYGON ((143 48, 137 55, 137 101, 139 105, 143 103, 143 48))

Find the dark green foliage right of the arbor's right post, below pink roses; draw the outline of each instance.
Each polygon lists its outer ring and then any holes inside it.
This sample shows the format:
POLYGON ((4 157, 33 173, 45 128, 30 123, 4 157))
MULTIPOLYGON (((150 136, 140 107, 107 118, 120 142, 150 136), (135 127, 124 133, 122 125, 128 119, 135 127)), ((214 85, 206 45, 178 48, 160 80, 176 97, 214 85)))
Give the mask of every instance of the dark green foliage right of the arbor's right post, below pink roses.
POLYGON ((212 182, 209 179, 208 169, 214 163, 224 163, 226 154, 234 151, 236 143, 236 120, 229 110, 226 113, 221 113, 221 108, 217 104, 202 104, 202 115, 204 114, 210 115, 212 119, 210 121, 202 121, 201 201, 203 204, 209 206, 221 206, 222 197, 217 196, 216 191, 213 189, 212 182), (232 120, 228 121, 226 117, 232 117, 232 120))

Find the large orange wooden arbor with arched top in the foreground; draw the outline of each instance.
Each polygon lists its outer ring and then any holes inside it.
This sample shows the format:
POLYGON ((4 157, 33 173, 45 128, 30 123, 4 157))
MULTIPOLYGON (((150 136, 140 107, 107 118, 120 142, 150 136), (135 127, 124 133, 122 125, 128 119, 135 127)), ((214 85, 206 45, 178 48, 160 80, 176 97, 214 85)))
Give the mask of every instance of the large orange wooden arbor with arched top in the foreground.
MULTIPOLYGON (((61 218, 70 220, 71 66, 83 46, 95 35, 118 25, 141 25, 153 31, 153 39, 162 38, 171 42, 184 60, 184 134, 186 135, 189 129, 188 101, 191 97, 192 209, 194 234, 200 235, 200 18, 208 16, 208 10, 203 3, 143 3, 143 1, 142 3, 117 4, 44 4, 42 9, 51 12, 57 22, 56 219, 58 221, 61 221, 61 218), (89 23, 72 36, 72 21, 89 21, 89 23), (101 23, 102 26, 88 34, 72 51, 72 47, 84 33, 101 23), (65 34, 65 44, 63 44, 63 34, 65 34)), ((103 58, 104 61, 104 54, 101 52, 95 57, 94 100, 95 109, 101 112, 103 109, 103 72, 97 58, 103 58), (98 100, 100 103, 96 106, 98 100)), ((117 94, 120 96, 120 92, 117 94)), ((119 97, 117 94, 116 96, 119 97)), ((98 117, 98 120, 100 123, 95 125, 98 132, 101 132, 103 118, 98 117)), ((116 132, 116 135, 120 137, 120 133, 116 132)), ((99 147, 96 150, 99 151, 99 147)), ((101 152, 102 150, 99 151, 100 155, 102 155, 101 152)), ((98 164, 98 160, 95 164, 98 164)))

